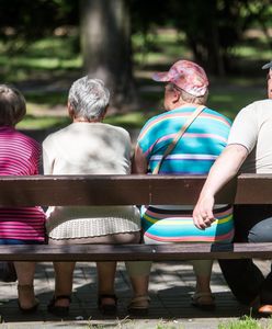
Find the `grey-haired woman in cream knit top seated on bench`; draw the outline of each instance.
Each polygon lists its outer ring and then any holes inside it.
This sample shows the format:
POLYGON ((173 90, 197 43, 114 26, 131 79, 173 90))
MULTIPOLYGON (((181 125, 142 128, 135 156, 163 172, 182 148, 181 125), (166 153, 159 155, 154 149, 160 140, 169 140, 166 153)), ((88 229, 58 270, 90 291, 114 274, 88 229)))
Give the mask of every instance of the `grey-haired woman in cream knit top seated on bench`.
MULTIPOLYGON (((72 123, 49 135, 43 143, 45 174, 131 172, 128 133, 102 123, 109 100, 110 92, 101 80, 83 77, 71 86, 68 113, 72 123)), ((49 207, 46 228, 52 245, 137 243, 140 239, 140 218, 135 206, 49 207)), ((54 265, 55 296, 48 305, 48 311, 66 316, 70 305, 75 262, 55 262, 54 265)), ((137 266, 131 268, 134 269, 129 274, 135 297, 140 297, 146 292, 146 281, 140 280, 137 266)), ((99 308, 104 314, 114 314, 116 263, 98 262, 97 269, 99 308)))

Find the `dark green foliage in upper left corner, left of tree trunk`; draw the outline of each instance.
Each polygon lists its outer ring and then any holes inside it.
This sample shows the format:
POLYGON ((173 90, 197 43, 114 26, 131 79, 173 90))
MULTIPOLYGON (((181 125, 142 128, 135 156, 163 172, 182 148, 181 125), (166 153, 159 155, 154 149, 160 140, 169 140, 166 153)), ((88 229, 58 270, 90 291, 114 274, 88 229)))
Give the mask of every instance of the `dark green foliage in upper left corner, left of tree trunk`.
POLYGON ((50 35, 58 26, 78 25, 78 1, 0 1, 0 38, 9 53, 18 53, 33 41, 50 35))

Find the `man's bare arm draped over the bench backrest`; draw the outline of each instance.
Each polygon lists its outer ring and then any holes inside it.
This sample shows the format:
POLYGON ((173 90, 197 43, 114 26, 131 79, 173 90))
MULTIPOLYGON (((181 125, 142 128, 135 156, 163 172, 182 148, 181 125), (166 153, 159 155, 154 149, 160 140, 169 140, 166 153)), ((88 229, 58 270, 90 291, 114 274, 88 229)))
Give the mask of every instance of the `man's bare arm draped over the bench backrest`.
POLYGON ((205 229, 215 220, 213 214, 215 194, 234 178, 248 156, 248 149, 239 144, 227 146, 211 168, 207 180, 194 207, 194 225, 205 229))

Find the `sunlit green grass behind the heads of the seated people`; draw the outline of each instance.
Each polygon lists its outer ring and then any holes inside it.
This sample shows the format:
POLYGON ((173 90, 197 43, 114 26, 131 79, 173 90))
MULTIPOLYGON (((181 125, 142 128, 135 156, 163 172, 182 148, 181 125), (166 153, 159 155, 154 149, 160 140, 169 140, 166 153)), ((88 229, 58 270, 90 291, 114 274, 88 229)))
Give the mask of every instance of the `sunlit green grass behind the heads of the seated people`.
MULTIPOLYGON (((75 44, 76 35, 54 36, 32 43, 20 54, 11 56, 4 52, 4 45, 0 43, 1 81, 25 87, 27 115, 20 123, 20 128, 46 129, 61 127, 68 123, 66 115, 56 115, 56 112, 58 106, 66 106, 68 82, 73 80, 75 75, 80 75, 82 58, 76 54, 75 44), (43 88, 45 81, 57 88, 45 91, 43 88)), ((151 33, 146 38, 135 34, 133 45, 135 77, 143 105, 131 113, 107 116, 106 122, 126 128, 140 128, 150 116, 162 111, 162 89, 143 91, 143 87, 156 84, 150 79, 151 72, 156 68, 169 67, 177 58, 189 58, 190 52, 185 47, 184 35, 173 30, 151 33)), ((249 65, 251 70, 259 68, 259 61, 264 63, 271 56, 271 50, 262 37, 245 39, 233 53, 237 65, 243 70, 245 65, 249 65), (256 58, 258 60, 252 68, 256 58)), ((225 79, 212 77, 207 105, 233 120, 241 107, 265 98, 265 82, 261 73, 260 70, 258 75, 247 77, 238 69, 236 76, 225 79)))

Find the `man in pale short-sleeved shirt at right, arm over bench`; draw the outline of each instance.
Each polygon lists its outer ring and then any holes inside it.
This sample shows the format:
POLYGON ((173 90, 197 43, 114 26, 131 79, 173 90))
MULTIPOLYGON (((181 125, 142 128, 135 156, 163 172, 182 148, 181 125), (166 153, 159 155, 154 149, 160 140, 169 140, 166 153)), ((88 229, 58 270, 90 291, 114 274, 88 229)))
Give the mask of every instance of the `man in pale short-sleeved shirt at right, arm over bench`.
MULTIPOLYGON (((214 196, 238 172, 272 173, 272 61, 268 72, 268 99, 242 109, 230 129, 228 146, 212 167, 194 208, 201 230, 216 223, 214 196)), ((272 241, 272 206, 238 206, 235 209, 236 242, 272 241)), ((261 314, 272 314, 272 273, 265 279, 252 260, 220 261, 223 274, 242 304, 258 302, 261 314)))

